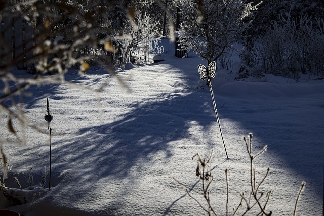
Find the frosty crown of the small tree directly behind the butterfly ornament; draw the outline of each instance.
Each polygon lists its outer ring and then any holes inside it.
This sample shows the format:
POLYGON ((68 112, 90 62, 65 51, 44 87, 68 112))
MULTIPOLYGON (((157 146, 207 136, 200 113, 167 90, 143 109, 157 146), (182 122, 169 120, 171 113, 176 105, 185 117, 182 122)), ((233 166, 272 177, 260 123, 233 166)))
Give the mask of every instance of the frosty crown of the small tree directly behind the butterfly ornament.
POLYGON ((179 32, 190 49, 208 63, 217 61, 248 26, 258 5, 242 1, 178 1, 183 23, 179 32))

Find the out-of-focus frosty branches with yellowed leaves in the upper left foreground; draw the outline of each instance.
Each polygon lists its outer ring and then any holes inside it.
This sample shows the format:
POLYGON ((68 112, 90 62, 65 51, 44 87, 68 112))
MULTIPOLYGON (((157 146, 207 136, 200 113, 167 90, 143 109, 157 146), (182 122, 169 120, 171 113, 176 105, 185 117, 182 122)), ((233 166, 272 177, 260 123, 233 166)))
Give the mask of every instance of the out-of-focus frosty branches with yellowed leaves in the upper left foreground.
MULTIPOLYGON (((110 35, 114 28, 122 25, 129 15, 123 2, 109 1, 7 1, 0 7, 1 29, 4 32, 17 31, 12 28, 12 20, 22 19, 22 33, 27 26, 33 29, 33 36, 22 44, 29 44, 30 56, 21 58, 24 53, 15 53, 11 58, 12 43, 7 33, 0 34, 0 121, 8 125, 8 130, 21 142, 25 135, 18 135, 17 128, 31 126, 22 111, 22 96, 31 85, 60 84, 65 82, 64 74, 71 67, 80 67, 85 73, 89 64, 96 61, 111 73, 114 69, 110 57, 114 52, 110 35), (116 12, 116 5, 120 10, 116 12), (118 13, 118 17, 112 14, 118 13), (6 21, 6 22, 3 22, 6 21), (8 22, 7 22, 8 21, 8 22), (119 22, 117 25, 116 23, 119 22), (59 39, 58 39, 59 38, 59 39), (100 49, 102 48, 102 49, 100 49), (94 55, 96 51, 100 54, 94 55), (33 78, 21 77, 13 67, 20 61, 29 65, 33 78), (44 74, 55 74, 44 76, 44 74), (19 95, 21 97, 15 97, 19 95), (3 122, 5 121, 5 122, 3 122)), ((20 45, 22 46, 22 45, 20 45)), ((2 141, 0 140, 0 144, 2 141)), ((15 141, 15 143, 17 143, 15 141)))

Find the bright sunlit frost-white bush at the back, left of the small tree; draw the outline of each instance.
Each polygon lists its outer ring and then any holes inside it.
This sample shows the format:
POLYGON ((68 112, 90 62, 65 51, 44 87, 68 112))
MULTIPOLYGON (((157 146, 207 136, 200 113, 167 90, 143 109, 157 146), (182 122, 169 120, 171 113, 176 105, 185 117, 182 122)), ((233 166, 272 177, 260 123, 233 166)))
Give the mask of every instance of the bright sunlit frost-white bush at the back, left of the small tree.
MULTIPOLYGON (((156 5, 156 4, 155 4, 156 5)), ((116 30, 112 36, 115 45, 114 65, 124 68, 127 62, 147 64, 150 53, 161 53, 160 22, 151 12, 153 1, 135 1, 129 9, 130 22, 116 30)))

